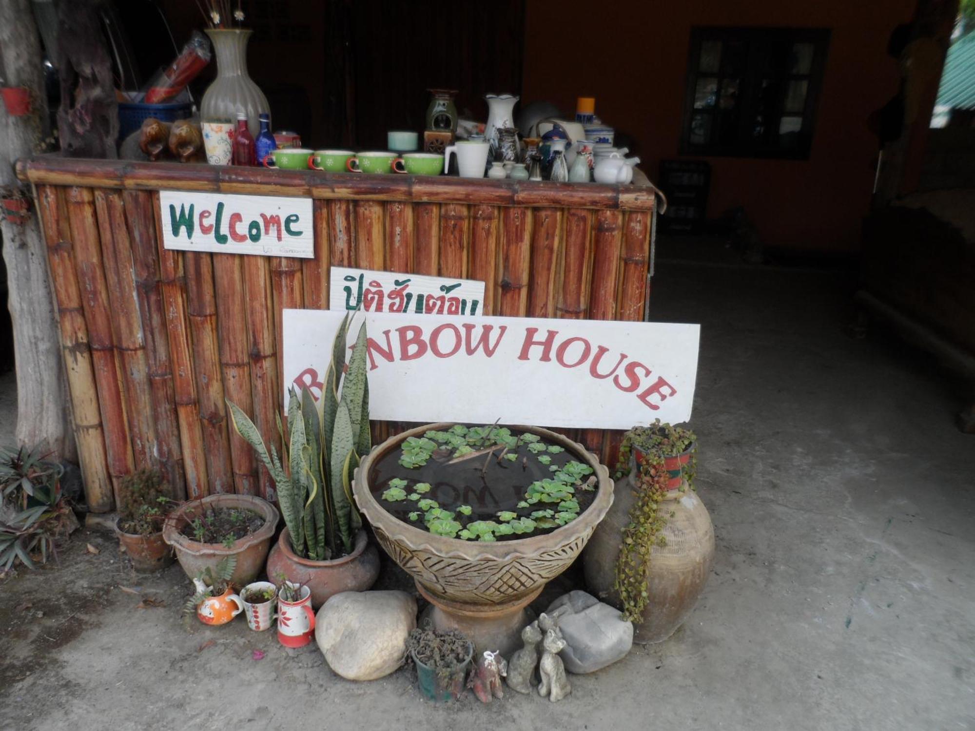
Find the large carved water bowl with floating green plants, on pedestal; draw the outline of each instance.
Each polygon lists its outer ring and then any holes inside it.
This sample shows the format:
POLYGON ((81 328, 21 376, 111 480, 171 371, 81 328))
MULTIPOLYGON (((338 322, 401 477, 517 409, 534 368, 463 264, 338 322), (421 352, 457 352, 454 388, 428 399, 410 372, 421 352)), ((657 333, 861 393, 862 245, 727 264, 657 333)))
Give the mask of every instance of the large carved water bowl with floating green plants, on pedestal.
POLYGON ((555 432, 441 423, 373 449, 354 494, 379 544, 434 604, 434 627, 503 654, 520 644, 526 605, 603 519, 612 481, 555 432))

